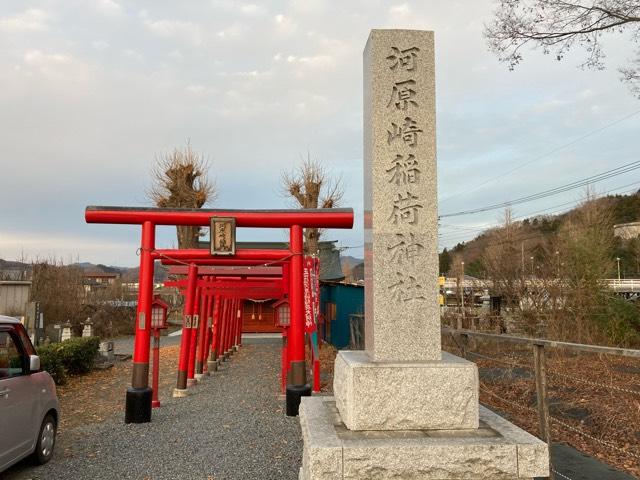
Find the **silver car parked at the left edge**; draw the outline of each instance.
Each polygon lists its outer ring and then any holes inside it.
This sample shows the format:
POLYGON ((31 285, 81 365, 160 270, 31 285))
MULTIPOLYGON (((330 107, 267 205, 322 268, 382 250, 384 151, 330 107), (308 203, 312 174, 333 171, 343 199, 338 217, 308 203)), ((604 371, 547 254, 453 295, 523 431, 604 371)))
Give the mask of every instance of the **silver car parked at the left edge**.
POLYGON ((0 472, 28 456, 51 460, 58 418, 55 384, 24 326, 0 315, 0 472))

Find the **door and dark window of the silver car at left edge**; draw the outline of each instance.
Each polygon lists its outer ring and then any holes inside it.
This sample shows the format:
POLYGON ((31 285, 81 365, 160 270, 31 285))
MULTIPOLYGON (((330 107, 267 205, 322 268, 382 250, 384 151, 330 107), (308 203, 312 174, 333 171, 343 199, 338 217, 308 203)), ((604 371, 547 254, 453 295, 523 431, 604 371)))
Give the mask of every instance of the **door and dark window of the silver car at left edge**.
POLYGON ((28 357, 12 326, 0 326, 0 469, 33 447, 37 398, 28 375, 28 357))

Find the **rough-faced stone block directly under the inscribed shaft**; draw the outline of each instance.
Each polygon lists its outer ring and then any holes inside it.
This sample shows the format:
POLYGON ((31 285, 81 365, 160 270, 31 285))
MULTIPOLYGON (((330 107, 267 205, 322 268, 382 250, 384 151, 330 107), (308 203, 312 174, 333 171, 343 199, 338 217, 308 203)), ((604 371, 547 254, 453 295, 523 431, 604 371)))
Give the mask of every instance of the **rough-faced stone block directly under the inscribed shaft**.
POLYGON ((334 395, 352 430, 478 428, 478 369, 443 352, 442 360, 376 363, 341 351, 334 395))

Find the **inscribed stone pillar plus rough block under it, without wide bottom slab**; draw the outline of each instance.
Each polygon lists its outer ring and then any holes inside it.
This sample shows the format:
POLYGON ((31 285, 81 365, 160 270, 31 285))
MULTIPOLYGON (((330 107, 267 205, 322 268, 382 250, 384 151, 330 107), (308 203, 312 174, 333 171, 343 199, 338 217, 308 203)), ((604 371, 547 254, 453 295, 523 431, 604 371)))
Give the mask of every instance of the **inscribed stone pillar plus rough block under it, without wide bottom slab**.
POLYGON ((364 51, 365 352, 339 352, 354 430, 478 428, 474 363, 442 354, 433 32, 374 30, 364 51))

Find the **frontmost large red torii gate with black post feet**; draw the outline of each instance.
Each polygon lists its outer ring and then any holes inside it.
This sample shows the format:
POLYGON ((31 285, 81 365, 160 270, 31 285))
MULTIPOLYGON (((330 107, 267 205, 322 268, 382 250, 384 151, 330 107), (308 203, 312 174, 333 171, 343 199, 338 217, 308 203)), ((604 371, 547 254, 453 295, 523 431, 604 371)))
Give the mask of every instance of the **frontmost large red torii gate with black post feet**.
MULTIPOLYGON (((110 223, 141 225, 140 277, 138 307, 135 322, 135 344, 131 387, 127 389, 125 422, 143 423, 151 421, 151 397, 149 388, 149 350, 151 302, 153 297, 154 259, 162 258, 166 253, 176 251, 155 249, 155 227, 157 225, 209 226, 212 217, 232 217, 237 227, 288 228, 290 238, 289 251, 289 303, 291 306, 291 327, 289 331, 290 370, 287 379, 287 414, 297 415, 300 397, 311 394, 306 381, 304 348, 304 306, 303 306, 303 228, 352 228, 352 209, 301 209, 301 210, 219 210, 219 209, 169 209, 135 207, 98 207, 85 209, 87 223, 110 223)), ((215 259, 216 265, 245 265, 249 262, 276 261, 270 257, 274 252, 282 255, 281 250, 238 250, 234 257, 216 258, 208 250, 181 250, 177 259, 190 258, 208 261, 215 259), (266 257, 266 258, 265 258, 266 257), (225 262, 227 260, 228 262, 225 262)), ((282 257, 280 257, 282 259, 282 257)), ((258 263, 259 264, 259 263, 258 263)), ((189 297, 189 296, 188 296, 189 297)), ((193 298, 187 302, 193 302, 193 298)))

